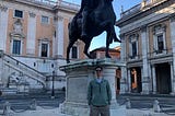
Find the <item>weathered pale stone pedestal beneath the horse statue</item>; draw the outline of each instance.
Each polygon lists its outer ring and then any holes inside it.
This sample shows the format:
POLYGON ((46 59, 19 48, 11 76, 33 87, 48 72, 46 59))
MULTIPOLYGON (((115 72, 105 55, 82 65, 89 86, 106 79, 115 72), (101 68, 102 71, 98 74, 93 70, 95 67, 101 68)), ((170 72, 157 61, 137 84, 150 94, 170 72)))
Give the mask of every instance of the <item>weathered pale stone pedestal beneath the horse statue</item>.
POLYGON ((89 82, 95 78, 95 67, 103 67, 103 77, 108 80, 112 89, 112 109, 117 109, 115 76, 116 69, 124 66, 112 59, 88 59, 61 66, 66 72, 66 101, 60 105, 61 113, 72 116, 89 116, 86 92, 89 82))

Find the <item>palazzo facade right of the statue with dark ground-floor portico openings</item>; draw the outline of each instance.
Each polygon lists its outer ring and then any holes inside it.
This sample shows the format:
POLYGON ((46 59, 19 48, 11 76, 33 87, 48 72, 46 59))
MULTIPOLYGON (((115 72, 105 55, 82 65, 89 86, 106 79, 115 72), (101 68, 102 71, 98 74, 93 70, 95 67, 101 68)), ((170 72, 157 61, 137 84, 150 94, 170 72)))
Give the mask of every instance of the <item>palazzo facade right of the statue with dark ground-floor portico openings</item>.
POLYGON ((120 93, 175 95, 175 0, 143 0, 122 11, 120 93))

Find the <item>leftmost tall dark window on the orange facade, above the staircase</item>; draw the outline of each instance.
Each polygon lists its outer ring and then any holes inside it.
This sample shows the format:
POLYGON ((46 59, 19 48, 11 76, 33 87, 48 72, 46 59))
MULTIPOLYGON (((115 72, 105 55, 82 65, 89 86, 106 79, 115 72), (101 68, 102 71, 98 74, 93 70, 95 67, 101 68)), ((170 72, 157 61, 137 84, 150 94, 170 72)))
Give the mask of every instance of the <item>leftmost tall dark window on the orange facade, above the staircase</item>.
POLYGON ((21 54, 21 40, 13 39, 12 54, 14 55, 21 54))

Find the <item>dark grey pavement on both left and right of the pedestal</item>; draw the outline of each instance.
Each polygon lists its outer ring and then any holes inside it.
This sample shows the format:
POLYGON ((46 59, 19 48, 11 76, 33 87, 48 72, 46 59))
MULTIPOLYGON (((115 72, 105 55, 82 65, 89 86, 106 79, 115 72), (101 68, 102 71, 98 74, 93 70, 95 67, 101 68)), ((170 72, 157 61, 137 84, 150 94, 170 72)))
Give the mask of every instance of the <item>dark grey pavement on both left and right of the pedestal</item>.
MULTIPOLYGON (((140 112, 150 111, 153 108, 155 100, 159 101, 161 113, 165 115, 175 116, 175 98, 171 95, 140 95, 140 94, 125 94, 117 95, 119 106, 126 105, 127 98, 130 101, 130 109, 139 109, 140 112)), ((51 111, 59 107, 59 104, 65 101, 65 92, 55 94, 51 98, 50 93, 40 93, 32 95, 12 95, 3 96, 0 101, 0 109, 3 109, 5 102, 9 102, 11 109, 14 113, 23 113, 26 111, 34 111, 34 107, 51 111)), ((1 114, 1 113, 0 113, 1 114)))

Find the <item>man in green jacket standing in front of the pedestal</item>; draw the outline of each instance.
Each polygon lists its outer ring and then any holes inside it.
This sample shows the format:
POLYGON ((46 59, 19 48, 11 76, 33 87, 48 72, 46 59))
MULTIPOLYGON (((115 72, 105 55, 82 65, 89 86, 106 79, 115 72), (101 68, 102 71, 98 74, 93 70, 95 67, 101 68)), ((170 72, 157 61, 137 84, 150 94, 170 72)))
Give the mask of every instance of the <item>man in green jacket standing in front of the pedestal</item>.
POLYGON ((112 91, 109 83, 103 78, 102 67, 96 67, 95 73, 96 78, 88 86, 90 116, 110 116, 112 91))

